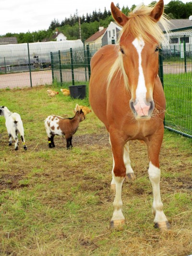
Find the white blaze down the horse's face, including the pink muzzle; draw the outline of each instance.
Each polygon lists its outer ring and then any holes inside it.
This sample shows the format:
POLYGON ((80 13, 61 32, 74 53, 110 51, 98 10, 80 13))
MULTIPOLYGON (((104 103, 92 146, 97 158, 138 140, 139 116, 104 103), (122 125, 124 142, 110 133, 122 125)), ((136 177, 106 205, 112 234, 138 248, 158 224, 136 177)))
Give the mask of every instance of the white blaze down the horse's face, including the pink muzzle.
POLYGON ((144 71, 142 67, 142 50, 144 49, 144 40, 142 37, 135 38, 132 41, 132 45, 135 47, 138 53, 138 69, 139 69, 139 77, 138 84, 135 92, 135 100, 130 100, 130 107, 135 115, 136 120, 140 119, 150 119, 151 114, 154 110, 154 102, 153 100, 148 101, 146 99, 147 88, 145 85, 144 79, 144 71))

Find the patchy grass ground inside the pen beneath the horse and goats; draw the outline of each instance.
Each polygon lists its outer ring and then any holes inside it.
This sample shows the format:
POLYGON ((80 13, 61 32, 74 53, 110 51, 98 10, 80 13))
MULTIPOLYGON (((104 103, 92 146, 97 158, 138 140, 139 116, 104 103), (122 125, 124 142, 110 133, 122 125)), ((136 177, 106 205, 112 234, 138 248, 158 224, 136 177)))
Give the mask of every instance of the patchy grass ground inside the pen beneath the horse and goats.
MULTIPOLYGON (((63 85, 68 86, 67 84, 63 85)), ((91 112, 73 136, 48 148, 44 120, 74 115, 83 100, 64 97, 60 86, 1 90, 0 105, 20 113, 28 147, 8 146, 0 117, 0 255, 7 256, 184 256, 192 254, 192 140, 165 131, 160 154, 161 196, 172 229, 153 227, 152 187, 146 146, 130 142, 135 182, 122 189, 122 230, 112 230, 112 156, 104 125, 91 112), (49 98, 47 89, 59 91, 49 98)), ((90 107, 90 106, 89 106, 90 107)))

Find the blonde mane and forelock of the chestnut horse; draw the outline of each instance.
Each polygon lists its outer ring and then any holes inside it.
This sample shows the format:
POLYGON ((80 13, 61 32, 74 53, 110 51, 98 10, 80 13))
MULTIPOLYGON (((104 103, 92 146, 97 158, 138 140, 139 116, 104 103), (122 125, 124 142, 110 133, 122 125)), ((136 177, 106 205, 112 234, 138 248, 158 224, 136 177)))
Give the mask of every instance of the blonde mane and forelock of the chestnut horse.
MULTIPOLYGON (((146 42, 151 42, 151 39, 153 37, 160 45, 166 39, 166 37, 161 28, 159 27, 159 24, 150 17, 150 13, 153 11, 153 9, 154 6, 144 6, 143 4, 138 5, 133 10, 133 12, 129 13, 129 21, 120 31, 120 37, 123 33, 126 33, 127 35, 132 34, 136 38, 142 37, 146 42)), ((170 21, 168 20, 168 17, 165 13, 161 16, 159 22, 168 33, 170 21)), ((118 39, 118 43, 120 42, 120 37, 118 39)), ((128 89, 128 77, 124 70, 121 53, 119 53, 118 58, 110 69, 110 72, 108 74, 108 85, 110 84, 115 73, 117 75, 119 72, 120 75, 123 75, 125 86, 128 89)))

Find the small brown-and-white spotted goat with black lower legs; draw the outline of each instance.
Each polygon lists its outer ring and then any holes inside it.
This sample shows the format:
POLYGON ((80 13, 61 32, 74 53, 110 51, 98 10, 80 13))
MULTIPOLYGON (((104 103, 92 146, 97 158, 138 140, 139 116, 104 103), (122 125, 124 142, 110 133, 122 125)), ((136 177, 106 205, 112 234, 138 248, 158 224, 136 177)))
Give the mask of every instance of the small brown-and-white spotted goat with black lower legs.
POLYGON ((48 146, 55 147, 54 136, 65 135, 67 141, 67 149, 72 147, 72 135, 76 133, 79 123, 84 121, 84 112, 77 111, 72 118, 63 118, 60 116, 51 115, 45 120, 45 128, 48 134, 48 146))

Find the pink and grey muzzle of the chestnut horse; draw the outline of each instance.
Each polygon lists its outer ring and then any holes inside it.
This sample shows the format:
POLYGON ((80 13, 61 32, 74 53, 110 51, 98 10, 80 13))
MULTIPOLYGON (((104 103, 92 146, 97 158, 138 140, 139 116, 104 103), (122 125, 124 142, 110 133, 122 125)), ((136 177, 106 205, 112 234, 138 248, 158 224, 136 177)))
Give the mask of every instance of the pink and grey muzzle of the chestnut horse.
POLYGON ((155 104, 154 101, 134 101, 130 100, 130 108, 136 120, 150 120, 155 104))

